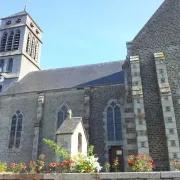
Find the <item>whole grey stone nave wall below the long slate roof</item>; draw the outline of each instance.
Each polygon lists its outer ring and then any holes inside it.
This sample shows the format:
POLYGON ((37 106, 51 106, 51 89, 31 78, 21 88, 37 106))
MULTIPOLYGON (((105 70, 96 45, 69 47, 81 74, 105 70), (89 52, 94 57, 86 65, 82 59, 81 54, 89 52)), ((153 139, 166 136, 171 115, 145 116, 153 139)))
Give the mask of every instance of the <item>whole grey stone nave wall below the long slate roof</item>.
MULTIPOLYGON (((32 159, 32 151, 37 154, 47 154, 47 162, 56 160, 56 156, 44 142, 43 138, 56 140, 55 132, 57 125, 57 115, 63 103, 66 103, 72 110, 73 117, 82 117, 85 122, 86 130, 90 133, 90 144, 95 145, 95 153, 100 158, 100 163, 105 163, 105 137, 104 137, 104 116, 103 112, 107 103, 111 99, 122 103, 122 112, 124 111, 124 85, 111 85, 96 87, 88 90, 71 89, 69 91, 49 91, 45 93, 26 93, 19 95, 2 96, 0 98, 0 161, 7 162, 27 162, 32 159), (88 96, 87 96, 88 91, 88 96), (39 97, 43 96, 43 105, 39 107, 39 97), (88 100, 87 100, 88 97, 88 100), (88 101, 88 102, 87 102, 88 101), (8 107, 8 108, 7 108, 8 107), (37 128, 37 119, 40 113, 39 138, 34 139, 35 127, 37 128), (21 148, 12 151, 8 149, 8 138, 10 135, 10 126, 12 114, 20 110, 24 115, 23 134, 21 148), (89 125, 88 125, 89 123, 89 125), (36 141, 39 145, 33 142, 36 141), (38 152, 34 148, 37 149, 38 152)), ((124 121, 124 117, 122 117, 124 121)), ((119 144, 118 144, 119 145, 119 144)), ((126 163, 127 164, 127 163, 126 163)))

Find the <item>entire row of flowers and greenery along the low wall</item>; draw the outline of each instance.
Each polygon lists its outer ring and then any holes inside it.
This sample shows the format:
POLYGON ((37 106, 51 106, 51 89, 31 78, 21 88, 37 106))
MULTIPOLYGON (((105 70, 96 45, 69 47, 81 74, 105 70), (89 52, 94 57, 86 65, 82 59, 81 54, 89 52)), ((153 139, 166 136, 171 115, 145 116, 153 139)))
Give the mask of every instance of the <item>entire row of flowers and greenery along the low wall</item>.
MULTIPOLYGON (((93 153, 93 146, 89 147, 87 155, 79 153, 76 156, 70 157, 65 149, 53 141, 45 139, 44 142, 55 150, 56 155, 59 155, 60 159, 63 160, 60 162, 46 163, 46 156, 41 154, 36 161, 30 161, 27 164, 10 163, 8 165, 5 162, 0 162, 0 173, 98 173, 102 169, 98 158, 93 153)), ((174 161, 174 164, 180 169, 177 161, 174 161)), ((148 172, 152 171, 155 167, 153 159, 145 154, 129 156, 128 166, 133 172, 148 172)), ((109 170, 109 168, 110 165, 106 164, 105 169, 109 170)), ((111 170, 115 172, 120 170, 118 157, 115 158, 111 170)))

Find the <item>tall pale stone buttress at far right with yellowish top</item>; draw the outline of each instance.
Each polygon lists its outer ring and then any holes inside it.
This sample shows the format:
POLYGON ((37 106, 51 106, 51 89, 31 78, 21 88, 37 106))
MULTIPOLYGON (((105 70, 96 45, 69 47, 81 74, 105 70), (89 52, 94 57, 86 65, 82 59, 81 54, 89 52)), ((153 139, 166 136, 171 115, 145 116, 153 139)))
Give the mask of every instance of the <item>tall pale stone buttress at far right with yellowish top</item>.
POLYGON ((172 160, 180 159, 179 139, 176 126, 176 118, 172 101, 171 88, 163 52, 154 54, 156 73, 161 96, 162 111, 167 137, 170 169, 173 170, 172 160))

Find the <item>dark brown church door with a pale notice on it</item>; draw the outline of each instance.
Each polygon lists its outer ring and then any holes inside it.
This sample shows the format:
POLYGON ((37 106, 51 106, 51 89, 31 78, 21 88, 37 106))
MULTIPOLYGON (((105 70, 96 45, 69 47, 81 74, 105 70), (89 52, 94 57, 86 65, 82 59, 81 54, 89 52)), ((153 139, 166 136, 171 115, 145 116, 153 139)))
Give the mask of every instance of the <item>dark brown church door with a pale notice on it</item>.
POLYGON ((122 146, 111 146, 109 149, 109 163, 111 165, 110 170, 124 172, 124 158, 122 146), (114 166, 114 161, 118 161, 117 167, 114 166))

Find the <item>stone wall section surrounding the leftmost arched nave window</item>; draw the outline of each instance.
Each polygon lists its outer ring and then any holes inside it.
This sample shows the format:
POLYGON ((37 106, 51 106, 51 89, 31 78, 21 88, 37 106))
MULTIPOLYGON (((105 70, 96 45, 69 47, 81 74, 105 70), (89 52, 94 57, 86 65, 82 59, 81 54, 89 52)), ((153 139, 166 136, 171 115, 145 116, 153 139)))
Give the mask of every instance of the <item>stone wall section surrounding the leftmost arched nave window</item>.
POLYGON ((37 116, 37 94, 2 96, 0 98, 0 161, 28 162, 32 158, 34 122, 37 116), (9 149, 9 137, 13 114, 23 114, 22 138, 19 148, 9 149))

